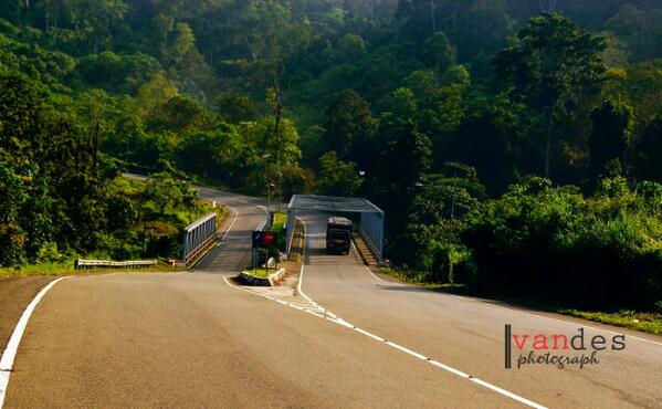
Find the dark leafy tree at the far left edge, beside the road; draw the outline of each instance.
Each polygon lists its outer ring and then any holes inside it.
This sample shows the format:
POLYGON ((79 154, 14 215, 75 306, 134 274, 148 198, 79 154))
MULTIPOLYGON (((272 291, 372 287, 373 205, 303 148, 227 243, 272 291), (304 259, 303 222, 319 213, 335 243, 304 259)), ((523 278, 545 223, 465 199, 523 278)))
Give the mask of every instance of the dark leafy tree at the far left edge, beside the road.
POLYGON ((8 242, 14 259, 3 263, 33 260, 54 239, 63 248, 88 248, 103 219, 103 192, 98 156, 78 134, 82 124, 66 106, 46 105, 46 94, 24 76, 0 74, 0 88, 2 177, 18 200, 3 210, 11 228, 4 239, 17 239, 8 242))

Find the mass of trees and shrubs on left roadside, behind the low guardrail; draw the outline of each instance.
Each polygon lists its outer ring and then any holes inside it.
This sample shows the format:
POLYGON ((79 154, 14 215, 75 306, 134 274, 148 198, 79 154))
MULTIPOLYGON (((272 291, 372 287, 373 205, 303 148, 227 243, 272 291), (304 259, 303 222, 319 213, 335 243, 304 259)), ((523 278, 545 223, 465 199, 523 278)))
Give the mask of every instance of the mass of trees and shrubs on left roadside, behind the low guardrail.
POLYGON ((95 123, 22 74, 0 74, 0 264, 80 255, 180 255, 180 230, 209 206, 168 172, 118 177, 95 123))

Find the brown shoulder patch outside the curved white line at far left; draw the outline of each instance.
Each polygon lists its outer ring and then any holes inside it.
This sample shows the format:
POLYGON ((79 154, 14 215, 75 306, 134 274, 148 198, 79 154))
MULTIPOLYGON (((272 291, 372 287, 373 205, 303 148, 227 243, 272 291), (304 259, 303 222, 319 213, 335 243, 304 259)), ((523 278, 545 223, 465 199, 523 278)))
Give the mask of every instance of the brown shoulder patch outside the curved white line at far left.
POLYGON ((56 276, 0 280, 0 350, 4 350, 17 323, 32 298, 56 276))

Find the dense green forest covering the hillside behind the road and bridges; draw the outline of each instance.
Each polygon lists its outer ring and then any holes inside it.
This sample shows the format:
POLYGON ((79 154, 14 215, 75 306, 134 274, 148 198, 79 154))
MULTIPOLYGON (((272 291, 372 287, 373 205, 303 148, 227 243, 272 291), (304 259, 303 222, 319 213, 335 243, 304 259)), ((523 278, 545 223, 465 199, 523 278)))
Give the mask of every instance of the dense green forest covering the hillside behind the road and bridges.
MULTIPOLYGON (((82 213, 27 254, 98 245, 81 242, 103 231, 85 216, 103 201, 90 189, 128 167, 283 198, 366 196, 388 213, 389 258, 428 281, 662 300, 658 1, 12 0, 0 15, 3 84, 23 73, 51 107, 30 145, 0 123, 17 145, 0 151, 3 189, 39 166, 82 213)), ((2 109, 27 117, 4 86, 2 109)), ((39 189, 15 195, 41 203, 39 189)), ((7 238, 27 206, 0 213, 3 260, 23 260, 7 238)))

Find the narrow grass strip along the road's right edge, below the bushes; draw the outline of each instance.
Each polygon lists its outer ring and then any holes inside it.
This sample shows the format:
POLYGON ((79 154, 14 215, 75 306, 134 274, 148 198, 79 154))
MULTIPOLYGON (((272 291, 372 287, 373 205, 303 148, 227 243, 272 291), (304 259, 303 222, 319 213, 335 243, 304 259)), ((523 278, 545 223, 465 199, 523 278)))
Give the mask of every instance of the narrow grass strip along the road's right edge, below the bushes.
POLYGON ((559 307, 539 300, 513 300, 495 297, 493 295, 477 294, 471 292, 466 285, 462 284, 433 284, 425 283, 420 280, 420 274, 408 275, 395 269, 380 269, 383 273, 389 274, 402 282, 417 285, 431 291, 445 293, 461 293, 465 295, 474 295, 482 297, 491 297, 503 301, 509 304, 522 305, 545 312, 551 312, 577 318, 588 319, 600 324, 613 325, 622 328, 640 331, 653 335, 662 335, 662 313, 647 313, 635 311, 619 311, 619 312, 596 312, 580 311, 576 308, 559 307))

